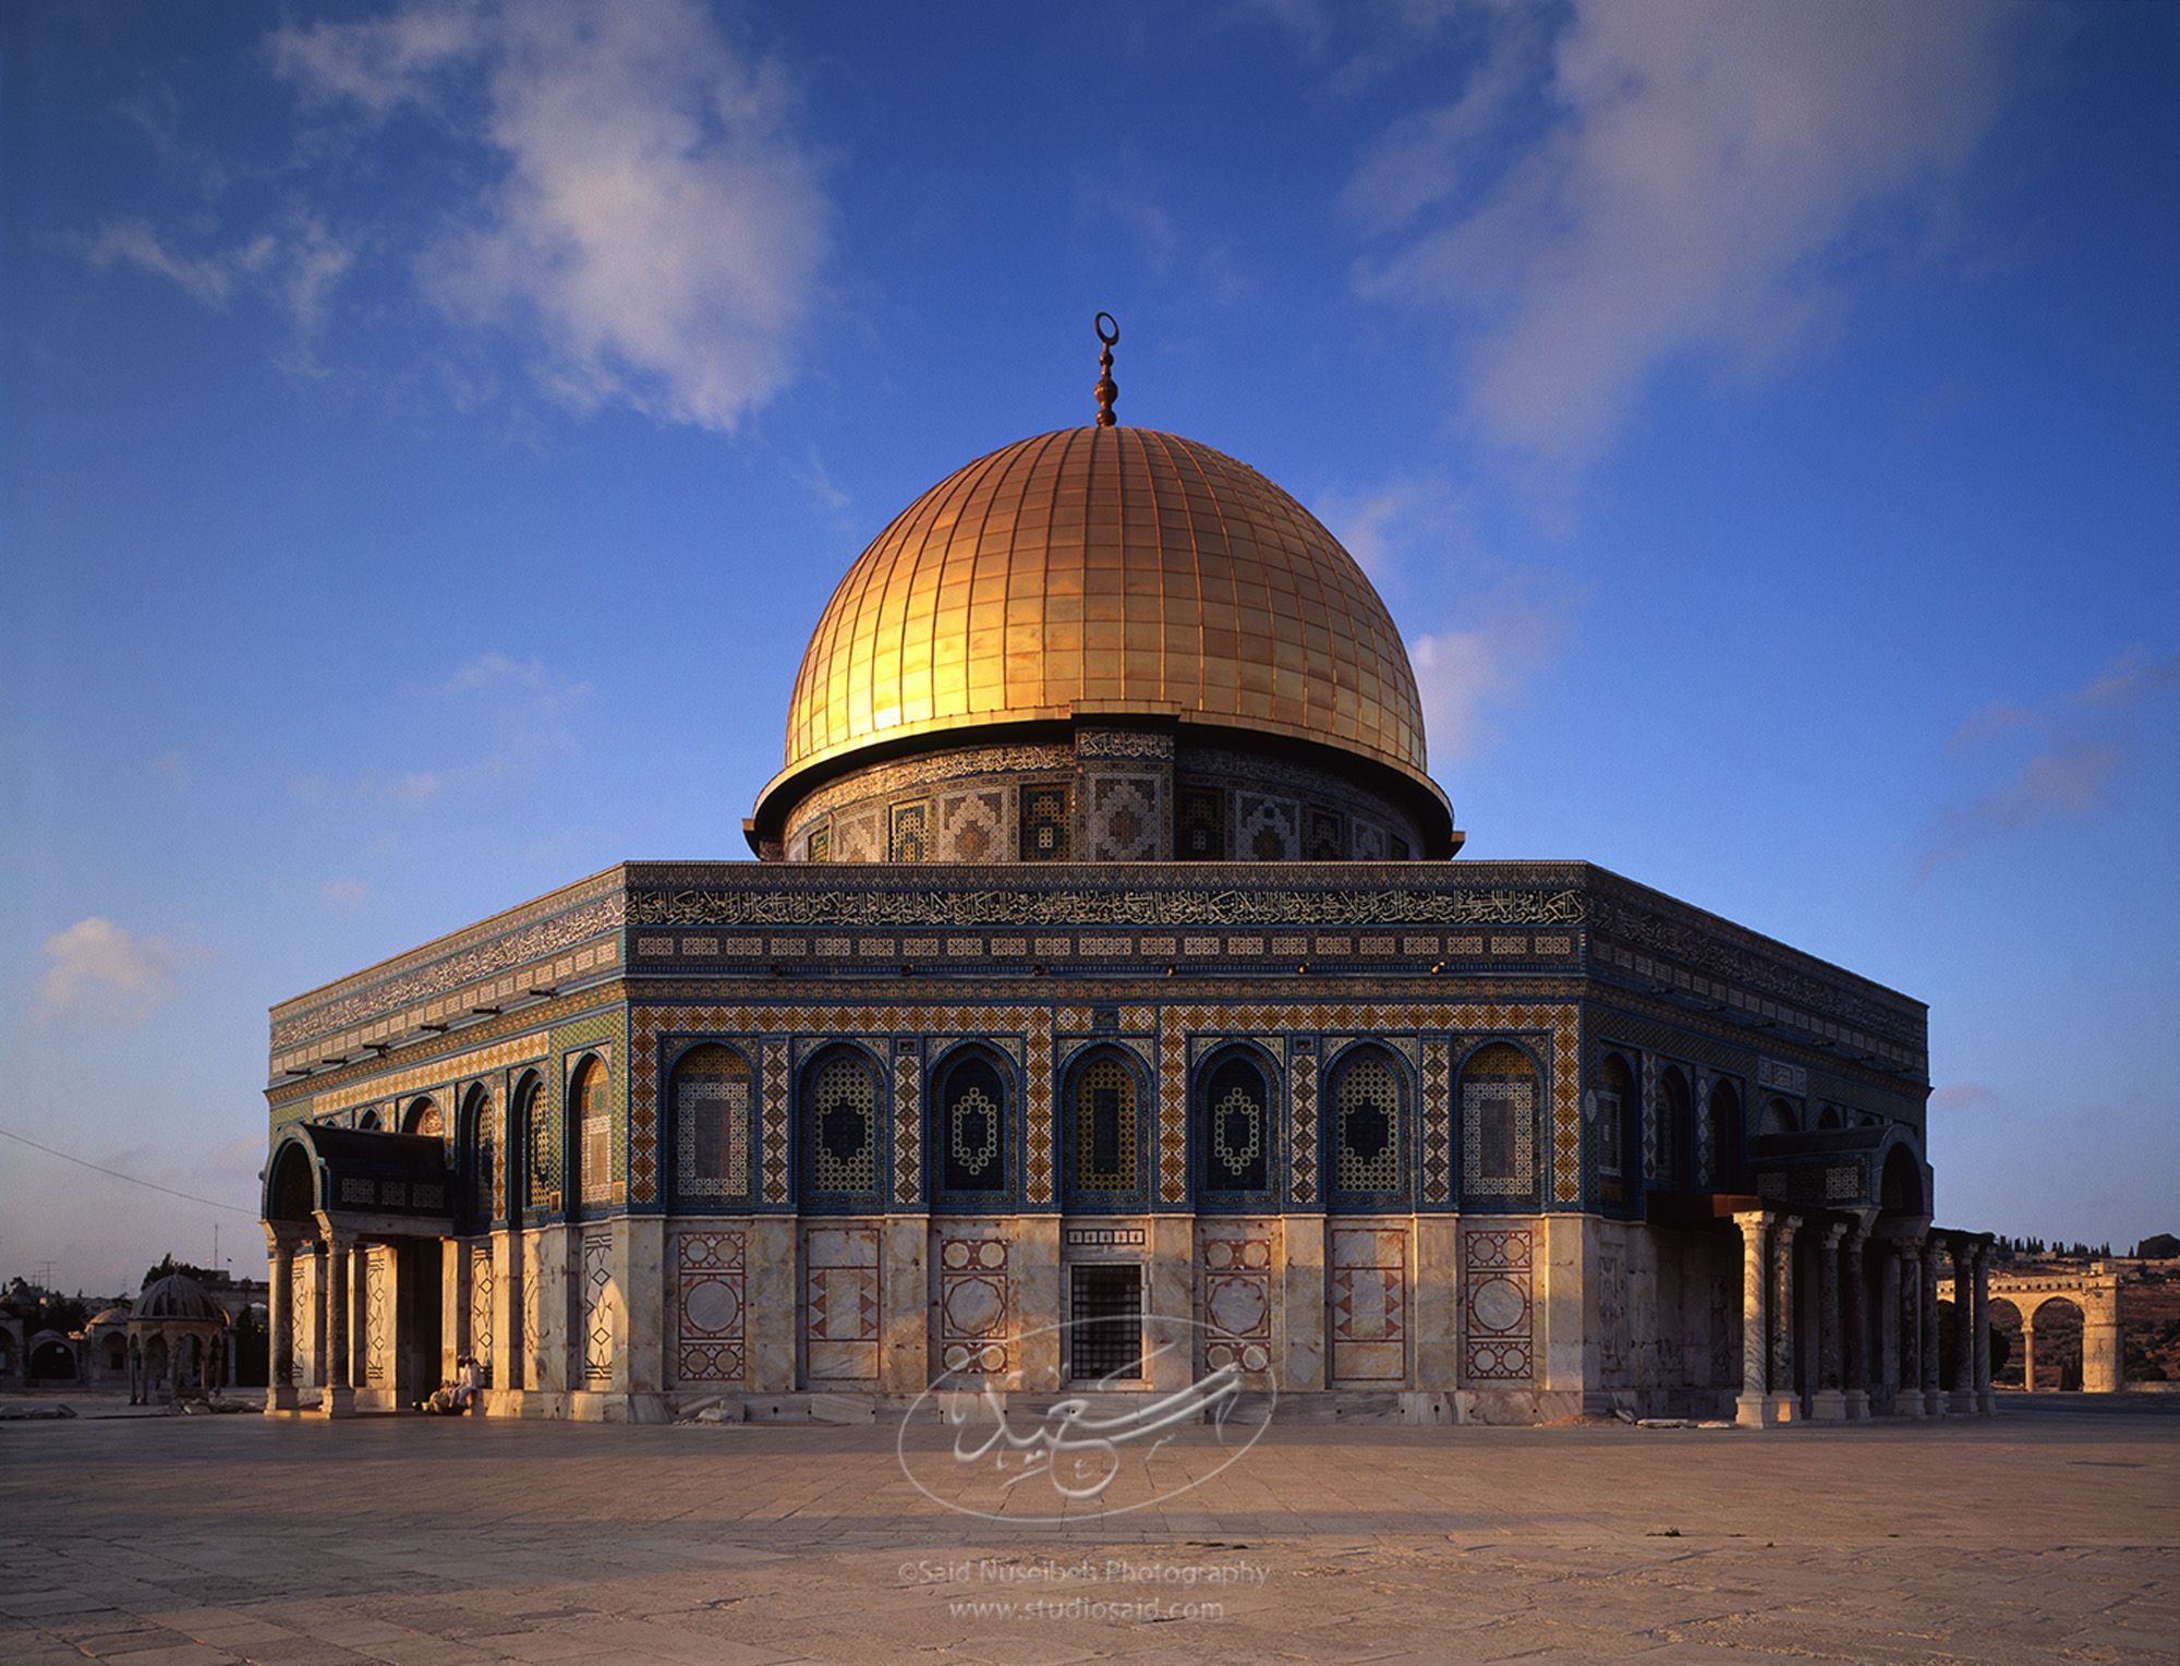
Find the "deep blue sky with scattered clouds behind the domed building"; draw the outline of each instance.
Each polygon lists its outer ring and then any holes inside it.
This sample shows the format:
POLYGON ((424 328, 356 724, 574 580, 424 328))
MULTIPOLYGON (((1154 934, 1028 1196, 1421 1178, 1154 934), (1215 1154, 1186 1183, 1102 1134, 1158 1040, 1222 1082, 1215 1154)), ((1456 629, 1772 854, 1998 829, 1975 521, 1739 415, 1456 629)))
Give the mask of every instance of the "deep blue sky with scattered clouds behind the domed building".
MULTIPOLYGON (((0 1114, 730 857, 837 576, 1083 421, 1378 578, 1474 857, 1931 1003, 1947 1221, 2180 1230, 2180 9, 0 9, 0 1114)), ((0 1271, 214 1210, 0 1145, 0 1271)))

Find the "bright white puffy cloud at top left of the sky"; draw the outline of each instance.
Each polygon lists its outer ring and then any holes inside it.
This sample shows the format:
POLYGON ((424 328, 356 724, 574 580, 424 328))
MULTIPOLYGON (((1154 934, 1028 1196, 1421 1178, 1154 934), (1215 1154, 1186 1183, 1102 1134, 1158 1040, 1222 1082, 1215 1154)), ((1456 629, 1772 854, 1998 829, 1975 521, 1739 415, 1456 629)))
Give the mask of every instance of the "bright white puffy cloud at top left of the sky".
POLYGON ((778 63, 691 0, 408 7, 272 37, 307 96, 432 111, 491 161, 416 273, 508 331, 541 388, 732 430, 796 355, 833 209, 778 63))

